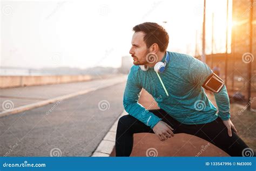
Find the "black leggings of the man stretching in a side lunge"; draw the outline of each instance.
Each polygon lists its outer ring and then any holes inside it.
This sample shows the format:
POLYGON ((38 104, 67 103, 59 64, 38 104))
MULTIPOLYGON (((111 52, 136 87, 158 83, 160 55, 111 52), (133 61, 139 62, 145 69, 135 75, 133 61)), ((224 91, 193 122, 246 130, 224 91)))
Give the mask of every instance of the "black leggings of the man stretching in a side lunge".
MULTIPOLYGON (((203 138, 231 156, 242 156, 243 149, 248 148, 233 130, 232 137, 228 136, 227 127, 220 118, 207 124, 186 125, 173 119, 162 109, 150 110, 150 112, 169 124, 174 129, 173 133, 187 133, 203 138)), ((150 126, 131 115, 121 117, 117 126, 116 156, 130 156, 133 147, 133 134, 143 132, 154 133, 150 126)))

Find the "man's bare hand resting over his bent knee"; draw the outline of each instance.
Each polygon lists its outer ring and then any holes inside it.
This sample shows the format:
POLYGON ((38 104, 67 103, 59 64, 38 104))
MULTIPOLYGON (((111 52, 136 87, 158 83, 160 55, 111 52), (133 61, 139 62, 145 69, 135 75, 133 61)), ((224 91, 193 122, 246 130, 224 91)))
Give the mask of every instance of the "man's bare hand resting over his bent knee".
POLYGON ((161 120, 156 125, 154 125, 153 131, 161 141, 165 141, 167 138, 174 137, 172 127, 161 120))

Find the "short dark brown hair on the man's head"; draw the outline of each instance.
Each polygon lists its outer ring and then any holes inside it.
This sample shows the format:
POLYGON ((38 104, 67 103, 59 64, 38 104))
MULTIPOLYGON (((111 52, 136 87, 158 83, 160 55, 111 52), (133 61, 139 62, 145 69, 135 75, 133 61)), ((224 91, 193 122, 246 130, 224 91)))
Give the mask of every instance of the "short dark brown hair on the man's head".
POLYGON ((143 40, 146 42, 147 48, 154 43, 158 44, 161 52, 165 52, 169 44, 169 35, 165 29, 157 23, 142 23, 133 27, 134 32, 144 32, 143 40))

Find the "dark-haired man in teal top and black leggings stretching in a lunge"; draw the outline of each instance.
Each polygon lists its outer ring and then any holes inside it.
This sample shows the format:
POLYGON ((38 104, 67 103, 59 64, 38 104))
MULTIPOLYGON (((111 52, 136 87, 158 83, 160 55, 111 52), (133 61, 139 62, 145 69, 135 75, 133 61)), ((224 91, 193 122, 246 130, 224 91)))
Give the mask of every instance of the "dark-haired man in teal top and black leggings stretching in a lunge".
POLYGON ((116 156, 130 156, 133 134, 142 132, 155 133, 161 141, 176 133, 188 133, 231 156, 242 156, 248 146, 230 120, 226 87, 214 93, 219 112, 202 88, 212 70, 190 55, 167 52, 169 35, 156 23, 136 25, 133 31, 130 54, 134 66, 123 98, 129 115, 118 122, 116 156), (142 88, 154 97, 159 110, 145 110, 138 103, 142 88))

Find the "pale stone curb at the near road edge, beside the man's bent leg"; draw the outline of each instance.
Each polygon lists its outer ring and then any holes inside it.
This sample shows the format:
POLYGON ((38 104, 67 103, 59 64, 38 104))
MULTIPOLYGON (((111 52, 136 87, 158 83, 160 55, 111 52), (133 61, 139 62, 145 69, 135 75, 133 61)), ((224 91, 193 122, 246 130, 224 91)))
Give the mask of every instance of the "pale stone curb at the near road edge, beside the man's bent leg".
POLYGON ((120 117, 128 115, 126 111, 123 111, 121 115, 118 117, 116 122, 112 125, 109 132, 107 132, 106 136, 103 140, 99 143, 98 147, 96 148, 95 152, 91 156, 110 156, 111 152, 113 151, 115 142, 116 142, 116 133, 117 133, 117 124, 120 117))

